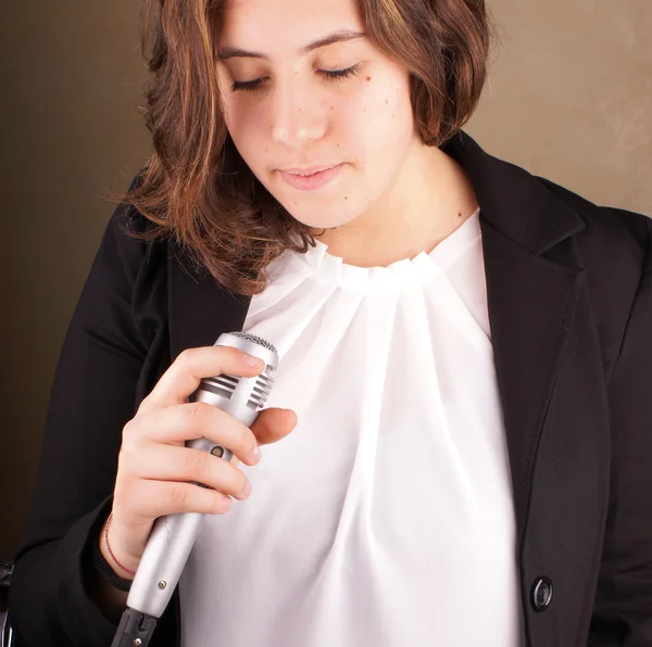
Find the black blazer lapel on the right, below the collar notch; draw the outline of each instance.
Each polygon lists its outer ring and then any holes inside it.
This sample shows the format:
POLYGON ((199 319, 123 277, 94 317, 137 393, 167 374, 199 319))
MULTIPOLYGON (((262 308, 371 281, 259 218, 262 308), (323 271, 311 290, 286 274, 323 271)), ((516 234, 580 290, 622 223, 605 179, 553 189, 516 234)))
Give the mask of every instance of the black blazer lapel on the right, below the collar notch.
POLYGON ((519 540, 532 466, 578 301, 581 269, 547 263, 481 221, 497 380, 519 540))

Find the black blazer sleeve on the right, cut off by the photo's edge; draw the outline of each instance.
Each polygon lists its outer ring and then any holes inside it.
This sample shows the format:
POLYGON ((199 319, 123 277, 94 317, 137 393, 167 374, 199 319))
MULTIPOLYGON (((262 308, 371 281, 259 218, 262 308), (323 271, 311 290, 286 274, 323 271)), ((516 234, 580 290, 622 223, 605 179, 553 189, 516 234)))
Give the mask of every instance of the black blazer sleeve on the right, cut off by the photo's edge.
POLYGON ((625 335, 609 380, 610 505, 591 647, 652 645, 652 219, 625 335))

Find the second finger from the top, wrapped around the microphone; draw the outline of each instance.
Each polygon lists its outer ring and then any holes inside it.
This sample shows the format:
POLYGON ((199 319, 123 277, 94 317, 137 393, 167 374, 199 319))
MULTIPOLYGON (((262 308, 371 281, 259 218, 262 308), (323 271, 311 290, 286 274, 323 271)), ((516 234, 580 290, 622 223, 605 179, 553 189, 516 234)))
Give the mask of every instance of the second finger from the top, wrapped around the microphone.
POLYGON ((184 403, 136 416, 124 428, 123 445, 129 451, 143 443, 181 445, 200 437, 230 449, 247 465, 260 460, 255 454, 259 443, 251 429, 205 402, 184 403))

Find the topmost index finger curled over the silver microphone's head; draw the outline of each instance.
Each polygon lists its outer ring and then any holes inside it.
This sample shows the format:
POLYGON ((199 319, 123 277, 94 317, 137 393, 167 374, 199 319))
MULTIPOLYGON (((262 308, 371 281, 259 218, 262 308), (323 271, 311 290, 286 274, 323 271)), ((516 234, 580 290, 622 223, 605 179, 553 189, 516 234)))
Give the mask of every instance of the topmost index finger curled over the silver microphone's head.
POLYGON ((252 378, 264 367, 244 364, 247 356, 233 346, 201 346, 181 352, 163 373, 151 393, 140 403, 138 414, 181 404, 197 391, 201 380, 222 373, 252 378))

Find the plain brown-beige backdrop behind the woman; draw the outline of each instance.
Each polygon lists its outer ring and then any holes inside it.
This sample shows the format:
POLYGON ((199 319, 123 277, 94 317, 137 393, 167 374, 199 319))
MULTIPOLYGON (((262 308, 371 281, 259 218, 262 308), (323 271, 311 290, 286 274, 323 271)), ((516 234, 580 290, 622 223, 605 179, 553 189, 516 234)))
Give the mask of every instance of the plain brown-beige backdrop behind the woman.
MULTIPOLYGON (((593 202, 651 215, 652 2, 488 4, 500 41, 466 130, 593 202)), ((0 7, 0 559, 21 540, 57 359, 114 208, 106 191, 149 154, 139 14, 139 0, 0 7)))

